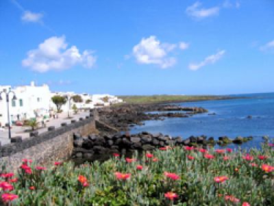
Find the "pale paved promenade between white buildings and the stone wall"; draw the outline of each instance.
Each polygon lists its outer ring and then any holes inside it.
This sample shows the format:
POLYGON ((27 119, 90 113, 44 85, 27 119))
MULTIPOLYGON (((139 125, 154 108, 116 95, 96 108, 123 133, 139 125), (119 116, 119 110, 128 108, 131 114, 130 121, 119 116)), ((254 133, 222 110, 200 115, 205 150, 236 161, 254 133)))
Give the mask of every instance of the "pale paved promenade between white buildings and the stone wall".
MULTIPOLYGON (((46 122, 47 127, 54 126, 55 128, 61 127, 61 123, 71 123, 71 120, 79 120, 80 117, 85 118, 86 116, 89 116, 89 112, 79 112, 78 114, 71 115, 72 118, 67 118, 67 113, 58 114, 58 118, 51 118, 49 119, 49 122, 46 122)), ((43 133, 47 131, 46 128, 38 129, 39 133, 43 133)), ((30 127, 17 127, 12 126, 12 137, 14 136, 22 136, 23 139, 29 138, 29 132, 24 132, 25 129, 28 129, 30 127)), ((10 140, 8 138, 8 129, 1 129, 0 130, 0 142, 1 145, 10 143, 10 140)))

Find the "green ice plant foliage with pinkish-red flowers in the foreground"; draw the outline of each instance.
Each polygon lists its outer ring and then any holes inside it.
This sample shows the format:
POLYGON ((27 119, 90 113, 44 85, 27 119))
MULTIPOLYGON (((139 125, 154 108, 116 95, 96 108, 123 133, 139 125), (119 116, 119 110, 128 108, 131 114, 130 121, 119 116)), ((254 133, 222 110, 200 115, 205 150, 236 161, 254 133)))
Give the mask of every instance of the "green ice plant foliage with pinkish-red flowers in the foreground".
POLYGON ((274 150, 268 143, 249 154, 167 149, 80 166, 62 162, 45 172, 29 159, 14 174, 3 166, 0 205, 273 205, 274 150))

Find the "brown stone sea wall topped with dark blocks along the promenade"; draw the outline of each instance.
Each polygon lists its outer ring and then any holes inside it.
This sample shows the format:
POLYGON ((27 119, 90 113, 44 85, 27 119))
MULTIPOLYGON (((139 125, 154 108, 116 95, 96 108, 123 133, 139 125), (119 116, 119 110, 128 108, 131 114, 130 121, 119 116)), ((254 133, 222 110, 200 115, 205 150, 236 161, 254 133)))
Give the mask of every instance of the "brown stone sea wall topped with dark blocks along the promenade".
POLYGON ((73 133, 86 136, 95 133, 94 116, 86 116, 79 121, 55 129, 38 136, 24 139, 22 142, 7 144, 0 147, 0 165, 5 165, 8 171, 16 171, 22 159, 32 159, 37 164, 52 164, 57 160, 71 157, 73 151, 73 133))

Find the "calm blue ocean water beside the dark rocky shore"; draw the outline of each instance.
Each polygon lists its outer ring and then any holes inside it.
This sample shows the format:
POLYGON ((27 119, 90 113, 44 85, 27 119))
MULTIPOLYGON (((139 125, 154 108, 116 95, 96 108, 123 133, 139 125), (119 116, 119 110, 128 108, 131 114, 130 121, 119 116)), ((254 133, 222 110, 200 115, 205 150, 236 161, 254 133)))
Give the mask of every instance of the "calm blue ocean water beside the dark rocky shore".
MULTIPOLYGON (((274 137, 274 93, 242 94, 245 99, 220 101, 199 101, 178 103, 182 106, 204 107, 208 113, 197 114, 189 118, 166 118, 165 120, 145 121, 145 125, 133 127, 131 133, 149 131, 171 136, 206 135, 218 139, 220 136, 253 136, 253 140, 242 144, 242 149, 260 148, 262 136, 274 137), (252 116, 252 118, 247 118, 252 116)), ((234 144, 229 147, 237 147, 234 144)))

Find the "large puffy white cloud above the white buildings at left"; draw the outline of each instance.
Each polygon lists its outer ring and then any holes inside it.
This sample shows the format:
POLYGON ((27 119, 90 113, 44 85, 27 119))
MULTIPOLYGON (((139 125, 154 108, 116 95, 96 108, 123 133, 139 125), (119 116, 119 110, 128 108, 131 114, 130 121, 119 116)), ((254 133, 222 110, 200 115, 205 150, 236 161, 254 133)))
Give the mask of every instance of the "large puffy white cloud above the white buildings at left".
POLYGON ((22 61, 22 65, 40 73, 64 70, 76 64, 82 64, 86 68, 95 65, 97 57, 92 51, 85 50, 81 54, 76 46, 66 49, 67 46, 65 36, 48 38, 39 44, 38 49, 27 52, 27 58, 22 61))

